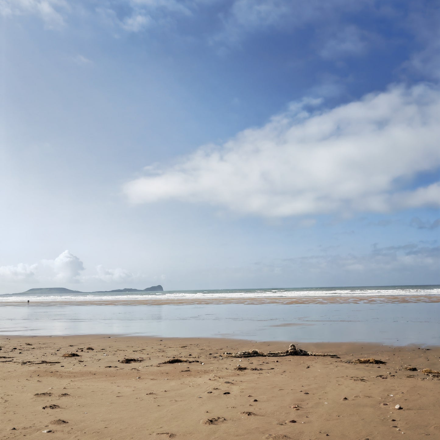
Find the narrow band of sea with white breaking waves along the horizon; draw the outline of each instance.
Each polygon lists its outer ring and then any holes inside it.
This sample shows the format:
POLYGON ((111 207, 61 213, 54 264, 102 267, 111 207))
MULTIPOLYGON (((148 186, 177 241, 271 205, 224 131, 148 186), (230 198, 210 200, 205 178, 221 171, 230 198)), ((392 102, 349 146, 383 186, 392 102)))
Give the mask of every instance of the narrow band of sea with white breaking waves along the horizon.
POLYGON ((282 289, 222 289, 222 290, 168 290, 164 292, 121 292, 121 293, 8 293, 0 295, 0 305, 4 303, 38 302, 87 302, 87 301, 143 301, 149 299, 172 300, 252 300, 252 299, 315 299, 326 298, 350 300, 371 297, 422 297, 440 295, 440 285, 432 286, 358 286, 358 287, 316 287, 282 289))

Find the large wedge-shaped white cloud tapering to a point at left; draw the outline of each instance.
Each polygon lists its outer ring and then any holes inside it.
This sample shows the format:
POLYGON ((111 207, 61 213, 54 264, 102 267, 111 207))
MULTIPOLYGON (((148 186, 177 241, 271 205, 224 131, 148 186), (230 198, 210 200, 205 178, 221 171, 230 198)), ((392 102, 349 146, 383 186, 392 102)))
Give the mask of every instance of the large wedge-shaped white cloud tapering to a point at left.
POLYGON ((306 99, 260 128, 125 184, 134 203, 209 203, 267 217, 440 206, 440 91, 402 85, 331 110, 306 99))

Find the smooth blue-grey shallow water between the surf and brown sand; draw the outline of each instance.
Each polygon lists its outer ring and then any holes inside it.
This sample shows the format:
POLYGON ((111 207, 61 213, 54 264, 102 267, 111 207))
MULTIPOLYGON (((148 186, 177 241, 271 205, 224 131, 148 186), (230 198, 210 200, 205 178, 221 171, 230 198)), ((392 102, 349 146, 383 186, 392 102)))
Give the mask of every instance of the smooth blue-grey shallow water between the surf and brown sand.
POLYGON ((440 303, 22 304, 0 307, 0 333, 440 345, 439 311, 440 303))

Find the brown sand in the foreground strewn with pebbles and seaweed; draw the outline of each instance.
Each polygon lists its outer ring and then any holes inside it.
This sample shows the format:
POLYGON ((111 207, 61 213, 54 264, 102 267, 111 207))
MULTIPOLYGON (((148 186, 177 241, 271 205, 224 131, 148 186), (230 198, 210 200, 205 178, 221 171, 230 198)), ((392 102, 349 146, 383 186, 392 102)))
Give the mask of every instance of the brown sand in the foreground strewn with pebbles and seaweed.
POLYGON ((340 359, 220 356, 289 342, 3 336, 0 438, 440 439, 440 378, 421 371, 440 370, 439 347, 297 343, 340 359), (163 364, 173 357, 192 362, 163 364), (352 363, 370 357, 386 364, 352 363))

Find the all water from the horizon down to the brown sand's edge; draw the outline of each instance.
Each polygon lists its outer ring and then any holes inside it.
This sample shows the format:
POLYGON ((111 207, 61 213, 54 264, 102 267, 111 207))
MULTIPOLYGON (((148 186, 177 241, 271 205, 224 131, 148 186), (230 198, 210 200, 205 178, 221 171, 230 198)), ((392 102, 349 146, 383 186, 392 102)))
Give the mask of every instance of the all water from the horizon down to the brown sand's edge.
POLYGON ((440 346, 440 285, 0 295, 0 335, 79 334, 440 346))

